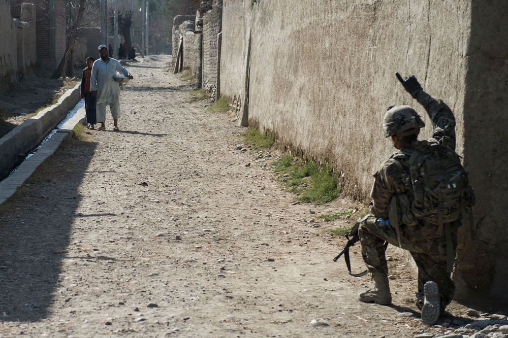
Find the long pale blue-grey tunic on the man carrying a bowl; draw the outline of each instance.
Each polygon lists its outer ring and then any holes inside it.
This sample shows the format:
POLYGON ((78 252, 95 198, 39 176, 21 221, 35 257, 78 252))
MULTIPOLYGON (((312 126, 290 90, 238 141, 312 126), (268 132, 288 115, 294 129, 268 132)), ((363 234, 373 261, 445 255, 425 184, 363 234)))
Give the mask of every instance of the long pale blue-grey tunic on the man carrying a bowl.
POLYGON ((97 90, 97 103, 120 103, 120 86, 113 80, 113 76, 129 76, 126 70, 117 59, 109 58, 108 61, 97 59, 93 62, 92 75, 90 77, 90 91, 97 90))

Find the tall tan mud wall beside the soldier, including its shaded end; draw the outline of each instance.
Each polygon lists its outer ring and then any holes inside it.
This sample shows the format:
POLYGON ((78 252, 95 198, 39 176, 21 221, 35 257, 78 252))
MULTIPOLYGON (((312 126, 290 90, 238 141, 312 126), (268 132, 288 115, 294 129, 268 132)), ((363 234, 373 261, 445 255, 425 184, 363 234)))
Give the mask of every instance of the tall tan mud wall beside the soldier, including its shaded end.
MULTIPOLYGON (((457 152, 478 195, 478 239, 469 241, 465 228, 460 233, 458 298, 508 291, 501 248, 508 235, 500 228, 508 206, 508 46, 499 14, 508 3, 490 5, 224 0, 223 7, 221 95, 244 103, 240 123, 274 130, 282 146, 328 161, 353 197, 367 200, 372 174, 393 151, 381 132, 386 109, 404 104, 425 114, 395 72, 416 75, 452 108, 457 152)), ((426 116, 425 123, 431 125, 426 116)))

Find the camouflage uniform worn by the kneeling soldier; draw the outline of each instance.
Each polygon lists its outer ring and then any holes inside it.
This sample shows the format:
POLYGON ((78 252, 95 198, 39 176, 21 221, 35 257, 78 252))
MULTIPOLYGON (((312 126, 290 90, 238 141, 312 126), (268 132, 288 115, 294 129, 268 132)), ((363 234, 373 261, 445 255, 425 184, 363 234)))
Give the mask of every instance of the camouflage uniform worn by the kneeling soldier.
MULTIPOLYGON (((450 108, 441 100, 435 100, 429 94, 421 90, 416 98, 425 108, 434 127, 432 142, 441 141, 444 145, 455 151, 455 118, 450 108)), ((406 147, 413 147, 414 142, 406 147)), ((375 181, 372 186, 371 197, 373 205, 370 214, 361 220, 359 229, 360 243, 362 246, 363 259, 369 272, 388 273, 385 257, 385 241, 408 250, 418 266, 418 293, 423 295, 423 286, 427 281, 437 283, 440 298, 444 302, 441 309, 452 300, 455 284, 447 272, 447 245, 444 234, 438 234, 435 225, 426 224, 425 220, 411 219, 410 215, 401 216, 400 238, 392 226, 379 227, 375 224, 377 218, 389 219, 389 205, 394 195, 401 200, 406 200, 408 205, 412 200, 409 187, 404 180, 409 176, 409 164, 407 158, 394 155, 387 160, 379 171, 374 175, 375 181), (408 224, 410 223, 410 224, 408 224)), ((403 212, 401 212, 403 213, 403 212)), ((457 247, 457 228, 460 221, 451 224, 453 241, 453 254, 457 247)))

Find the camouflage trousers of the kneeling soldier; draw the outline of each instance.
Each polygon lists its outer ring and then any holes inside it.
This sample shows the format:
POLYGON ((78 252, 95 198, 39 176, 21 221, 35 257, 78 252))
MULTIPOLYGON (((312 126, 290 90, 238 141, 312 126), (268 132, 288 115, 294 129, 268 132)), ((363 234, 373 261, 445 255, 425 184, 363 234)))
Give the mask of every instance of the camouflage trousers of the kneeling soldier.
MULTIPOLYGON (((404 240, 399 241, 395 229, 391 226, 379 227, 375 217, 363 219, 358 234, 362 246, 362 256, 369 272, 388 274, 385 256, 385 241, 409 251, 418 266, 418 293, 423 295, 423 286, 428 281, 437 283, 440 297, 446 305, 453 298, 455 283, 447 273, 447 245, 444 234, 437 238, 419 238, 418 227, 401 226, 404 240)), ((457 250, 457 230, 452 230, 453 254, 457 250)))

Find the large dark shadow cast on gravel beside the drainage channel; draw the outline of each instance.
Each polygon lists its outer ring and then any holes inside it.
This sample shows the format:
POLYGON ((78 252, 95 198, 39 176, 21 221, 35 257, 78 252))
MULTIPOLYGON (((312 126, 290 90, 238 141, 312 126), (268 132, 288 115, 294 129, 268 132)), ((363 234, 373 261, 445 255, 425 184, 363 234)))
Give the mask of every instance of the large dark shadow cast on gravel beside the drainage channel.
MULTIPOLYGON (((79 186, 96 143, 72 139, 0 206, 0 319, 34 322, 49 316, 61 283, 79 186)), ((78 252, 77 256, 81 256, 78 252)), ((85 254, 82 255, 85 257, 85 254)), ((69 257, 67 257, 69 258, 69 257)), ((108 258, 109 259, 109 258, 108 258)))

